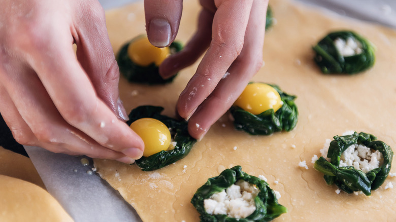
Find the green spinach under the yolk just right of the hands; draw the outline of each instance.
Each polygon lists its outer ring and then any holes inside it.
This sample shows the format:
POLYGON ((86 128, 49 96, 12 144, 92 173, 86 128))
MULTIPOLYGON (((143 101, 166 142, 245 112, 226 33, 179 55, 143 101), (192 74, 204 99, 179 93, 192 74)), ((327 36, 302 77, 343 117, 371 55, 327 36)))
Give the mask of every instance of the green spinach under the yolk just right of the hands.
POLYGON ((283 92, 276 85, 268 85, 279 93, 283 105, 276 112, 274 109, 268 109, 258 115, 245 111, 239 106, 232 106, 230 113, 234 118, 236 129, 244 130, 251 135, 270 135, 282 130, 290 131, 297 125, 299 111, 294 103, 296 96, 283 92))

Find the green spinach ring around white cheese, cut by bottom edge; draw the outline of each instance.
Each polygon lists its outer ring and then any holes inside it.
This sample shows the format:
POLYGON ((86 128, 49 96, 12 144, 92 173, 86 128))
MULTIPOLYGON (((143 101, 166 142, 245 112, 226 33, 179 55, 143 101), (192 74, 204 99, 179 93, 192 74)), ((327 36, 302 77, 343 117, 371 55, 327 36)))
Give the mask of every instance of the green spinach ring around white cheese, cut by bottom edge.
POLYGON ((242 171, 241 166, 235 166, 226 169, 219 176, 209 178, 208 181, 199 188, 191 199, 192 205, 201 214, 201 221, 270 221, 287 212, 287 208, 278 204, 278 199, 269 184, 255 176, 251 176, 242 171), (213 194, 219 193, 232 186, 237 180, 245 180, 254 184, 259 190, 258 195, 254 198, 256 209, 246 218, 232 218, 225 214, 209 214, 204 207, 204 200, 210 198, 213 194))

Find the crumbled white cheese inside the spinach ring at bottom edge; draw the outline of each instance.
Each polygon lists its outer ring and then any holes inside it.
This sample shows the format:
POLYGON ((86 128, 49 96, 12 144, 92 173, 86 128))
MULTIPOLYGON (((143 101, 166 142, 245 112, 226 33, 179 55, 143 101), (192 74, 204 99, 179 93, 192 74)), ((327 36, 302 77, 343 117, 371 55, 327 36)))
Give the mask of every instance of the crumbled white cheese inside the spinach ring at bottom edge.
POLYGON ((254 198, 259 190, 253 184, 238 180, 231 187, 204 200, 209 214, 227 214, 229 217, 245 218, 256 210, 254 198))

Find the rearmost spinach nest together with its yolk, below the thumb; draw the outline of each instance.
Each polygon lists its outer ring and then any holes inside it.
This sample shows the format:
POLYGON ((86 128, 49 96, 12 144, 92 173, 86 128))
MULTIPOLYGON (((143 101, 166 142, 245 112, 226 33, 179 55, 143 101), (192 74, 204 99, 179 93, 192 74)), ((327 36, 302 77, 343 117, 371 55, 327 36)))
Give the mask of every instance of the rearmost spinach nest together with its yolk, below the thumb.
POLYGON ((117 62, 120 72, 129 82, 170 83, 176 75, 166 80, 162 79, 158 72, 159 64, 168 55, 177 53, 182 48, 180 42, 173 42, 169 47, 157 48, 148 42, 147 36, 139 35, 121 47, 117 54, 117 62))

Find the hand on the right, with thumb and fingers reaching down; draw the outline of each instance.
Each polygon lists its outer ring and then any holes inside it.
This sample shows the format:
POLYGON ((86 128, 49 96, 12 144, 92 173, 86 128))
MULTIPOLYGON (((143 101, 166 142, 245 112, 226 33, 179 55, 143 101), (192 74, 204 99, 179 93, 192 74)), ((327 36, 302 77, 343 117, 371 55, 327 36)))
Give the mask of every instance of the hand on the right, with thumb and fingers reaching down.
MULTIPOLYGON (((194 76, 179 96, 177 111, 189 119, 188 131, 202 138, 235 102, 262 65, 268 0, 201 0, 198 28, 185 48, 162 62, 169 78, 194 63, 209 47, 194 76)), ((150 42, 170 45, 176 37, 182 0, 145 0, 150 42)))

